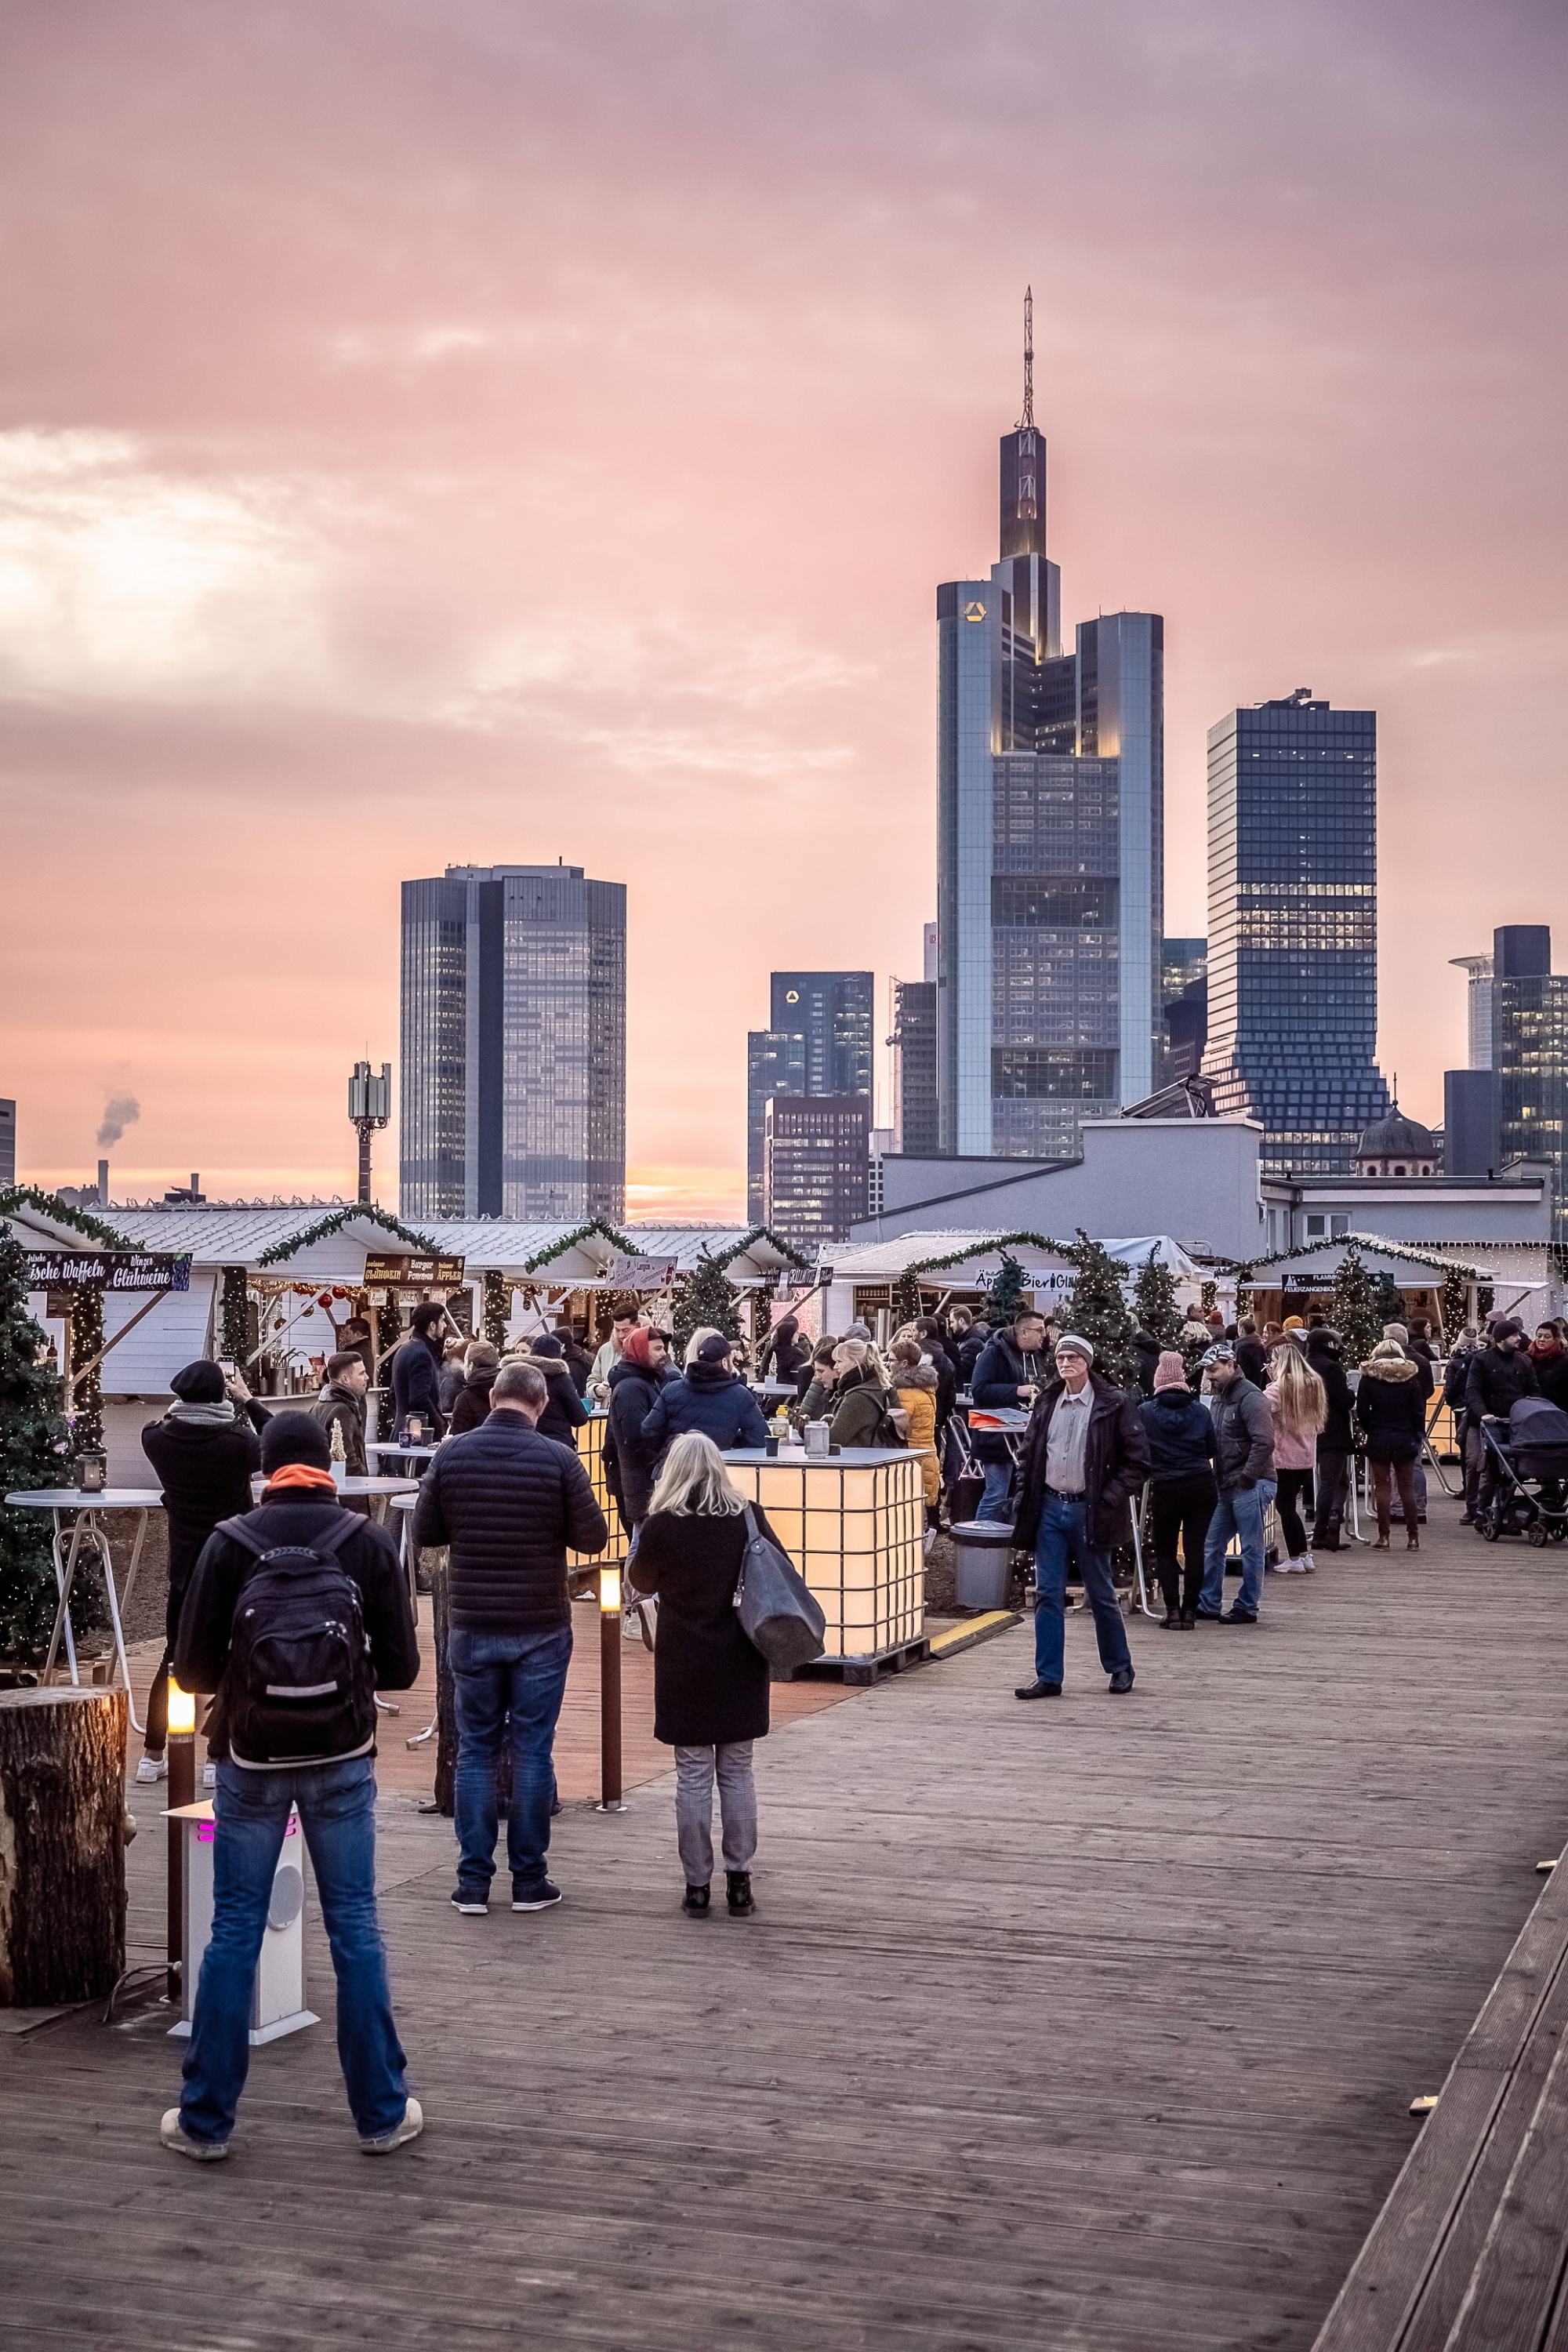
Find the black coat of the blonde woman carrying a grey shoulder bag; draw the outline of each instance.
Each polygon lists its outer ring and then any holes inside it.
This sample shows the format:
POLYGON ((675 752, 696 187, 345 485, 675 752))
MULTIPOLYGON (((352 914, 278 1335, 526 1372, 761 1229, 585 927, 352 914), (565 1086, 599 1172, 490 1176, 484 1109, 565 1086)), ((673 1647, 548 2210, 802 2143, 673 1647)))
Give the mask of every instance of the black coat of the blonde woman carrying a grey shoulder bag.
MULTIPOLYGON (((773 1536, 764 1512, 752 1515, 773 1536)), ((743 1550, 741 1512, 679 1519, 661 1510, 642 1522, 630 1578, 658 1592, 654 1738, 672 1748, 759 1740, 769 1729, 769 1665, 736 1616, 743 1550)))

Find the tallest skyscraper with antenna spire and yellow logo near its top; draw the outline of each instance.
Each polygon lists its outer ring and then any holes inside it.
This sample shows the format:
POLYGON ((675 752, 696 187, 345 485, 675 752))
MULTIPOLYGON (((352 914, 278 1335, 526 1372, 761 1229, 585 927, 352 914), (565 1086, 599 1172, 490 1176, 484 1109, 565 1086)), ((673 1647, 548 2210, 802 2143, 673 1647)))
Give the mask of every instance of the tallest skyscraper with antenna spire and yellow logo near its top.
POLYGON ((940 1148, 1063 1157, 1150 1094, 1161 1042, 1164 621, 1060 644, 1046 437, 1001 437, 1001 560, 945 581, 938 626, 940 1148))

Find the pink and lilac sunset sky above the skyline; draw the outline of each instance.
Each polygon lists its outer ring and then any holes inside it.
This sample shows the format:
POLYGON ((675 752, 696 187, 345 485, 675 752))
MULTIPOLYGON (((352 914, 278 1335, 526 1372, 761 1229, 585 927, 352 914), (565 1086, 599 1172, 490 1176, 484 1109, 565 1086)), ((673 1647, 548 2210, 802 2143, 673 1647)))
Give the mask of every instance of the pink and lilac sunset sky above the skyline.
MULTIPOLYGON (((397 884, 628 884, 628 1218, 743 1204, 766 974, 919 976, 936 597, 1037 416, 1063 623, 1380 715, 1380 1061, 1568 964, 1556 0, 73 0, 0 19, 0 1094, 353 1190, 397 884), (134 1112, 134 1115, 127 1115, 134 1112)), ((376 1155, 395 1202, 395 1138, 376 1155)))

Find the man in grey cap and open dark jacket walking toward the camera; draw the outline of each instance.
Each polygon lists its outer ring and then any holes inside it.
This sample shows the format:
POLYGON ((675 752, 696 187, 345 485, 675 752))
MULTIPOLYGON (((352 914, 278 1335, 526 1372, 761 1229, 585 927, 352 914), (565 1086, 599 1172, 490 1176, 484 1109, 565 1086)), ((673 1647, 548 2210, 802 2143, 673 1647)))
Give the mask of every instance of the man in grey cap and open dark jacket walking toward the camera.
POLYGON ((1041 1390, 1023 1439, 1018 1543, 1034 1545, 1034 1682, 1018 1698, 1060 1698, 1067 1656, 1067 1562, 1077 1559, 1095 1618, 1112 1696, 1133 1689, 1133 1653, 1110 1555, 1128 1534, 1126 1505, 1150 1475, 1138 1397, 1093 1371, 1077 1331, 1056 1343, 1056 1381, 1041 1390))

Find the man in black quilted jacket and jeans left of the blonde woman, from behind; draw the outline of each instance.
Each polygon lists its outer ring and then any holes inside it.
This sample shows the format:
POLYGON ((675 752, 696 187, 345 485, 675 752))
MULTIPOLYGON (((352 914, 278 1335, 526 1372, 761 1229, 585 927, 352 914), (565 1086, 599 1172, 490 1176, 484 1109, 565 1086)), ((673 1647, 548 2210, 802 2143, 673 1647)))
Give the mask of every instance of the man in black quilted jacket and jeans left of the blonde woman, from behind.
POLYGON ((418 1489, 414 1541, 451 1545, 447 1663, 458 1717, 454 1907, 489 1910, 496 1875, 496 1757, 510 1712, 512 1799, 505 1858, 512 1910, 559 1903, 545 1875, 555 1724, 571 1661, 567 1550, 602 1552, 604 1512, 571 1451, 538 1435, 548 1402, 536 1364, 508 1362, 489 1421, 449 1437, 418 1489))

